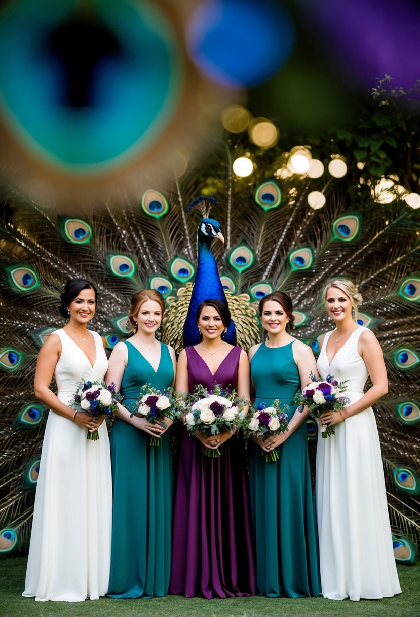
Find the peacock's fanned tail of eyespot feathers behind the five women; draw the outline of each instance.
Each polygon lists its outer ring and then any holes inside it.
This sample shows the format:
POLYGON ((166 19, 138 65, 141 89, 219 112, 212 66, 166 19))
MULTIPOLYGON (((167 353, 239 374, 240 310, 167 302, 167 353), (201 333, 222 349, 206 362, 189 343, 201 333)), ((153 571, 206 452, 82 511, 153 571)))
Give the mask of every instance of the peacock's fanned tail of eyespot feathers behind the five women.
MULTIPOLYGON (((389 374, 389 394, 375 411, 395 557, 405 563, 415 559, 420 540, 418 216, 398 196, 389 204, 374 201, 366 184, 348 191, 345 180, 279 172, 285 161, 275 150, 257 153, 251 179, 234 178, 232 157, 239 150, 232 142, 215 146, 205 167, 190 168, 165 194, 153 186, 136 204, 121 194, 86 218, 58 215, 4 188, 3 554, 23 550, 30 531, 47 414, 32 392, 34 365, 44 338, 63 325, 56 310, 63 284, 84 276, 97 285, 93 327, 105 336, 109 349, 127 336, 132 293, 158 289, 167 305, 163 340, 179 352, 196 273, 201 216, 188 212, 187 205, 201 195, 218 202, 211 216, 220 223, 225 243, 216 242, 212 249, 238 344, 245 349, 262 340, 256 305, 267 292, 281 289, 290 294, 295 336, 317 354, 320 335, 331 328, 321 301, 323 287, 339 277, 360 286, 359 321, 378 336, 389 374), (325 207, 310 208, 308 194, 322 187, 325 207)), ((310 421, 307 428, 313 449, 317 428, 310 421)))

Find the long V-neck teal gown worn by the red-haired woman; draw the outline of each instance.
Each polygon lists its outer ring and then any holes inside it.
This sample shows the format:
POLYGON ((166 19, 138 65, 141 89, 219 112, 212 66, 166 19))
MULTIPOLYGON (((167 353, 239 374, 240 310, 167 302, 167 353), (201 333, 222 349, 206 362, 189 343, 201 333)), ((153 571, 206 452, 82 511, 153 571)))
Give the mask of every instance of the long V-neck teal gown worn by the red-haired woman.
MULTIPOLYGON (((168 346, 161 344, 155 372, 129 342, 121 381, 123 404, 129 408, 141 387, 171 386, 174 368, 168 346)), ((139 598, 168 593, 171 574, 172 450, 169 431, 160 447, 150 436, 120 418, 111 432, 113 522, 108 597, 139 598)))

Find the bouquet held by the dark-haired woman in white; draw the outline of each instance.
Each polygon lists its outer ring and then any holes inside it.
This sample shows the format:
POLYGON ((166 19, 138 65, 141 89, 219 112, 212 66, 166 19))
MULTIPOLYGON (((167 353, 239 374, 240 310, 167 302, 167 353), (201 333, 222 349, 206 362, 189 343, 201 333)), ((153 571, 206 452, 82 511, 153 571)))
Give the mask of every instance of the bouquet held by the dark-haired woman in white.
MULTIPOLYGON (((117 409, 117 401, 119 395, 115 392, 115 383, 110 383, 109 386, 105 381, 85 381, 81 379, 76 385, 76 394, 73 394, 73 399, 69 400, 70 407, 75 408, 78 412, 90 413, 92 416, 98 416, 100 413, 106 413, 111 416, 117 409)), ((97 441, 99 439, 98 431, 87 431, 87 439, 97 441)))

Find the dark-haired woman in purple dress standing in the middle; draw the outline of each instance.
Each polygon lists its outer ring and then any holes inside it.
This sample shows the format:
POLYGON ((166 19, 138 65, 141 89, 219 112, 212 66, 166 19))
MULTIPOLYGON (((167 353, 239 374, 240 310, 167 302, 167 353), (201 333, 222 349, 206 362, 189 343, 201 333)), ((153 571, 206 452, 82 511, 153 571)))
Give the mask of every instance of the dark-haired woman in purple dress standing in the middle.
MULTIPOLYGON (((197 310, 203 341, 182 350, 176 389, 193 392, 196 384, 236 389, 249 399, 249 363, 240 347, 224 342, 230 312, 220 300, 197 310)), ((205 598, 253 595, 254 550, 244 444, 225 431, 188 436, 184 428, 174 493, 174 528, 169 593, 205 598), (219 448, 209 458, 203 448, 219 448)))

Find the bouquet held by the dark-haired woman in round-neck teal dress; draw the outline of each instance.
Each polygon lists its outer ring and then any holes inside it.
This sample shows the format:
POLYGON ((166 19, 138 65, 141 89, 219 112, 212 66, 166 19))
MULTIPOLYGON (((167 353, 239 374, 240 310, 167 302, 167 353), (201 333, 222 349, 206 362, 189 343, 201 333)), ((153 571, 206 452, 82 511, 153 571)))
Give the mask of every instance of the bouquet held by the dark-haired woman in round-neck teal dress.
MULTIPOLYGON (((288 431, 288 405, 285 405, 283 409, 280 407, 280 400, 276 399, 270 407, 266 407, 262 402, 258 405, 257 409, 251 408, 248 416, 245 418, 242 424, 244 429, 244 438, 248 439, 250 435, 259 437, 264 435, 262 441, 265 441, 270 435, 278 435, 288 431)), ((272 463, 278 460, 278 454, 275 449, 270 452, 262 450, 262 457, 265 462, 272 463)))

